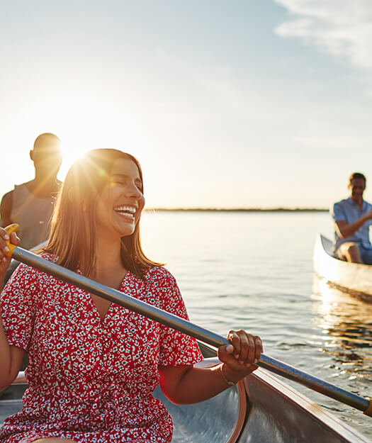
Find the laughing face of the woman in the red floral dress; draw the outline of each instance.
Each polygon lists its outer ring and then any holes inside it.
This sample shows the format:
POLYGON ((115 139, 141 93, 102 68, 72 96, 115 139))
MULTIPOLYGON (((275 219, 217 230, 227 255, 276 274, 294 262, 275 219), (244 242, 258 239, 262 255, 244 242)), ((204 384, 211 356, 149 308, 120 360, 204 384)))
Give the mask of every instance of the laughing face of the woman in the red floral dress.
POLYGON ((137 165, 130 159, 116 159, 96 205, 98 232, 113 232, 119 237, 133 234, 144 205, 137 165))

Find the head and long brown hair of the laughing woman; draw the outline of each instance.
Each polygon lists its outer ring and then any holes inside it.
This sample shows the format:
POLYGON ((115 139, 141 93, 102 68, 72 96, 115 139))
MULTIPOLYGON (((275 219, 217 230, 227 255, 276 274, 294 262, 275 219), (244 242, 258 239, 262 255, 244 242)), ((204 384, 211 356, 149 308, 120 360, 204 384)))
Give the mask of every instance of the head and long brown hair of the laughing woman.
POLYGON ((91 150, 67 173, 46 250, 69 269, 84 264, 86 276, 94 269, 97 249, 104 249, 106 262, 121 251, 125 267, 142 276, 143 267, 155 264, 146 259, 140 246, 142 192, 142 169, 135 157, 118 150, 91 150), (121 209, 127 206, 135 213, 128 215, 121 209), (67 238, 71 240, 69 247, 67 238))

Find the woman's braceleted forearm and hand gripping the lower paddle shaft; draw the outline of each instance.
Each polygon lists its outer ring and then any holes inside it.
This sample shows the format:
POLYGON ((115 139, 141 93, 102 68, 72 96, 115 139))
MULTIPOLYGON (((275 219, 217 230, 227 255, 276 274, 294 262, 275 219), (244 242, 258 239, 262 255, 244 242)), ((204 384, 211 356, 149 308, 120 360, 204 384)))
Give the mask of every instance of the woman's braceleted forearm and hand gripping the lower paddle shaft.
POLYGON ((212 368, 193 366, 159 366, 160 386, 164 395, 176 404, 198 403, 207 400, 257 369, 262 342, 244 330, 230 331, 232 344, 218 349, 222 364, 212 368))

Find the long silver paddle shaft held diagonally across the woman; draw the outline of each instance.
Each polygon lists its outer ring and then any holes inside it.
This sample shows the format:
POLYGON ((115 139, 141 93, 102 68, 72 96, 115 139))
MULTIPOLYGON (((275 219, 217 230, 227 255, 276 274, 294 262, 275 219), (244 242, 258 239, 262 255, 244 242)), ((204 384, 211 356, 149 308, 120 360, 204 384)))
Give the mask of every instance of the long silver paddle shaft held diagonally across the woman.
MULTIPOLYGON (((137 300, 137 298, 127 296, 113 288, 109 288, 108 286, 104 286, 96 281, 87 279, 76 272, 49 262, 48 260, 33 254, 33 252, 29 252, 21 247, 15 247, 15 245, 12 245, 10 242, 7 242, 7 245, 10 249, 9 256, 11 255, 13 259, 28 264, 33 268, 40 269, 40 271, 55 276, 63 281, 67 281, 67 283, 73 284, 74 286, 84 289, 85 291, 94 293, 96 296, 106 298, 106 300, 111 301, 112 303, 121 305, 135 311, 136 313, 139 313, 140 315, 144 315, 147 318, 151 318, 152 320, 162 323, 163 325, 167 325, 175 330, 184 332, 186 335, 190 335, 191 337, 201 340, 201 342, 210 344, 213 347, 218 348, 229 343, 225 337, 221 337, 220 335, 215 334, 215 332, 211 332, 203 327, 194 325, 188 320, 179 318, 176 315, 167 313, 164 310, 155 308, 152 305, 137 300)), ((372 417, 371 399, 356 396, 355 394, 345 391, 342 388, 338 388, 327 381, 310 374, 306 374, 293 366, 271 357, 267 357, 264 354, 261 354, 261 358, 259 359, 257 366, 288 378, 289 380, 296 381, 304 386, 308 386, 308 388, 312 389, 313 391, 317 391, 325 396, 334 398, 334 400, 345 403, 352 408, 359 409, 363 411, 364 414, 372 417)))

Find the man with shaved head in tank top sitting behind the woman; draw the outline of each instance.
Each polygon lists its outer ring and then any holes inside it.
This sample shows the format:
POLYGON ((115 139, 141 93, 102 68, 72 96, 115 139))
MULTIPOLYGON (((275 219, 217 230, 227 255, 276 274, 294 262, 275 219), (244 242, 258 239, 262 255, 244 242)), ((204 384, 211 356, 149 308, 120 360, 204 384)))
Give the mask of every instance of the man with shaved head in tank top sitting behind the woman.
POLYGON ((49 224, 61 182, 57 173, 62 163, 60 139, 51 133, 36 138, 30 159, 35 178, 14 186, 0 203, 0 225, 18 223, 21 247, 30 249, 47 239, 49 224))

